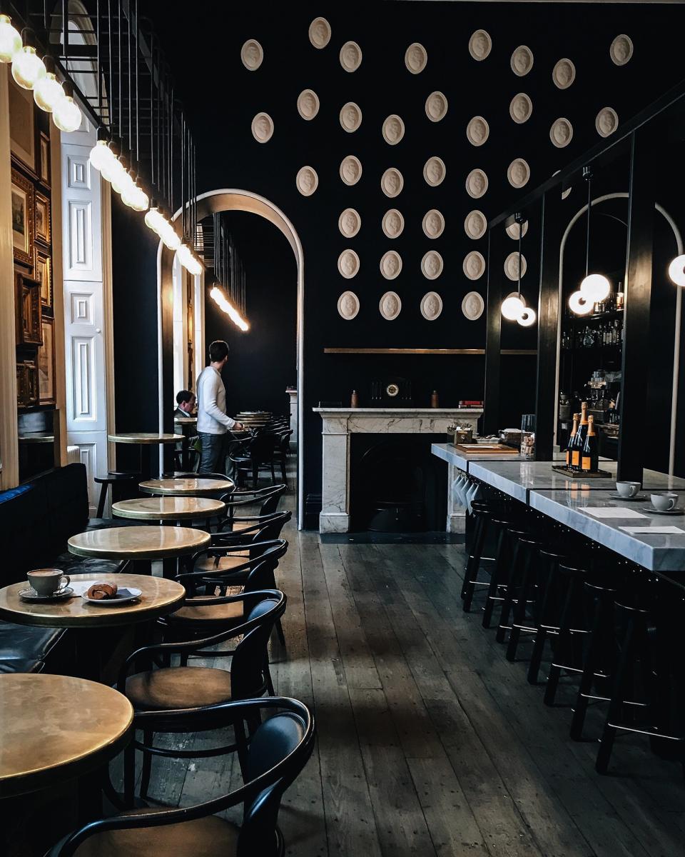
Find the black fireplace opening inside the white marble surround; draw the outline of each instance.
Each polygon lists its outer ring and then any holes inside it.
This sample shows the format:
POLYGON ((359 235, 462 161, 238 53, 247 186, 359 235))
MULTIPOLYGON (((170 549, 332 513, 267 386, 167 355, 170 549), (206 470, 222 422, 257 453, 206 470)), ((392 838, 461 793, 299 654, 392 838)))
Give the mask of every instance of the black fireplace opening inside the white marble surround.
POLYGON ((350 530, 444 531, 447 468, 431 453, 444 434, 352 434, 350 530))

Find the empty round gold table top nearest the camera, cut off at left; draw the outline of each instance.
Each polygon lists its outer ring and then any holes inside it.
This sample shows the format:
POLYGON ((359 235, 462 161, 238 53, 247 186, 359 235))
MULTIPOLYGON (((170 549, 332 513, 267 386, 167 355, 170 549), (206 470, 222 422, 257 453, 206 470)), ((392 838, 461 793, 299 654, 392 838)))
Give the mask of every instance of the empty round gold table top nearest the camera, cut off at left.
POLYGON ((0 797, 96 770, 133 738, 133 722, 128 699, 98 682, 0 675, 0 797))

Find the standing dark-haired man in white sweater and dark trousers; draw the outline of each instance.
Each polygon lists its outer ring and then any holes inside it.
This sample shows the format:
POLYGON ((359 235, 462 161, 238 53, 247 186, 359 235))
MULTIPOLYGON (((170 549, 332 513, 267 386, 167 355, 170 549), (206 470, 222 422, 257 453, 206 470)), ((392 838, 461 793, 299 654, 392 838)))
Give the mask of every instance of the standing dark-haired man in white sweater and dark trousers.
POLYGON ((226 416, 226 389, 221 370, 229 359, 229 346, 216 339, 209 346, 209 366, 200 372, 197 385, 198 435, 202 454, 200 473, 223 473, 226 461, 226 433, 231 428, 243 431, 242 423, 226 416))

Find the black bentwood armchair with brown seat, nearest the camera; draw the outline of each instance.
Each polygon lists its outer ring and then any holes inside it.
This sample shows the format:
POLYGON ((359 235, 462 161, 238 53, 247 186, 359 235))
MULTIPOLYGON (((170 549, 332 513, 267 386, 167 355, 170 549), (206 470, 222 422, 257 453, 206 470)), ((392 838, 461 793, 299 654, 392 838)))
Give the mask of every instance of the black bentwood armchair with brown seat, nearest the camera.
MULTIPOLYGON (((141 721, 145 717, 140 715, 141 721)), ((195 806, 136 810, 91 822, 66 836, 48 857, 282 857, 278 811, 283 793, 312 755, 312 714, 296 699, 273 697, 214 704, 200 719, 235 724, 234 747, 242 756, 239 788, 195 806), (245 724, 260 720, 263 710, 275 713, 246 738, 245 724), (217 817, 241 804, 240 827, 217 817)))

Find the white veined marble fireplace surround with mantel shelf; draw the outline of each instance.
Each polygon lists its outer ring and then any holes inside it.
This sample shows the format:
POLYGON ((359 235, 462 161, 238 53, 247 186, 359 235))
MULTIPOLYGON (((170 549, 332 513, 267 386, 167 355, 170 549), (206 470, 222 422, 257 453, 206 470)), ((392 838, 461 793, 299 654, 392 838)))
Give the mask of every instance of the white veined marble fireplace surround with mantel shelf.
MULTIPOLYGON (((349 435, 365 434, 446 434, 454 423, 471 425, 483 413, 480 408, 313 408, 321 417, 324 462, 321 485, 322 504, 319 531, 344 533, 349 530, 349 435)), ((450 502, 448 482, 448 520, 446 529, 458 531, 451 518, 459 512, 450 502)))

